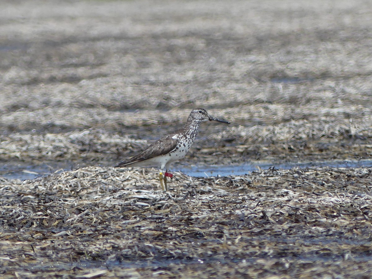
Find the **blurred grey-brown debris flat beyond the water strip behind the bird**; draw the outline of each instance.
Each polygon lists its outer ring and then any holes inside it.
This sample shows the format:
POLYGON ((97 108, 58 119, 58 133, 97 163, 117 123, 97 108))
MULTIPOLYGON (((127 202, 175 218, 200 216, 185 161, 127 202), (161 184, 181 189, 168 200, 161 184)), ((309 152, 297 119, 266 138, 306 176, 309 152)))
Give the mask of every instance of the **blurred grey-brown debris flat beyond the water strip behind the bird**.
POLYGON ((368 1, 3 1, 0 160, 110 166, 195 107, 232 125, 201 126, 193 165, 368 159, 371 11, 368 1))

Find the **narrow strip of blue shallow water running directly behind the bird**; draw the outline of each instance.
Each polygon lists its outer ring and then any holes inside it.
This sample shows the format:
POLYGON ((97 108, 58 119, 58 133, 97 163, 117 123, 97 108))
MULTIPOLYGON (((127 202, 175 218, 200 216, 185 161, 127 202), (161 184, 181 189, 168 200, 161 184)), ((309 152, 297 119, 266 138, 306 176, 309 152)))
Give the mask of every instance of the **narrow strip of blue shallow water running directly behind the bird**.
MULTIPOLYGON (((244 175, 252 171, 265 170, 271 167, 275 169, 292 169, 294 167, 307 168, 307 167, 372 167, 372 160, 358 160, 358 161, 321 161, 321 162, 308 162, 308 163, 267 163, 267 162, 254 162, 241 165, 231 166, 194 166, 186 167, 181 164, 176 164, 173 171, 181 171, 188 176, 194 177, 209 177, 209 176, 229 176, 229 175, 244 175)), ((4 164, 0 167, 0 176, 6 179, 34 179, 39 176, 45 176, 52 173, 61 171, 68 171, 77 169, 78 164, 58 164, 58 165, 26 165, 26 164, 4 164)))

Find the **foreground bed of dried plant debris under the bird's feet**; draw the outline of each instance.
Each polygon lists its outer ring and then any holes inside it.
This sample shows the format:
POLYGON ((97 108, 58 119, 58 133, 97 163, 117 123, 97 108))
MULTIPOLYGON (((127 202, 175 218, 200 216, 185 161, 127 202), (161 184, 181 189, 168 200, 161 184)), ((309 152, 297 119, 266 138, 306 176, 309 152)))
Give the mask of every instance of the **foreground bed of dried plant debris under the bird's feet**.
POLYGON ((372 267, 371 168, 176 173, 167 193, 156 173, 86 167, 2 180, 0 273, 353 277, 372 267))

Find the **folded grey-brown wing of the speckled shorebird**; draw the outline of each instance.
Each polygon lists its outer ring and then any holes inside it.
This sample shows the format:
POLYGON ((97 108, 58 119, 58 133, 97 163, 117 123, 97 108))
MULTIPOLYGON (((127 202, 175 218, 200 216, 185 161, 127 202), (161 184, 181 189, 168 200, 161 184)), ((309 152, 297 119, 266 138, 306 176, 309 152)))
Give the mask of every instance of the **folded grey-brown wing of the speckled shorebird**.
POLYGON ((160 155, 165 155, 176 148, 177 141, 172 138, 174 134, 166 135, 157 141, 153 142, 149 147, 147 147, 140 154, 135 155, 129 160, 122 161, 116 167, 124 167, 133 163, 145 161, 150 158, 154 158, 160 155))

